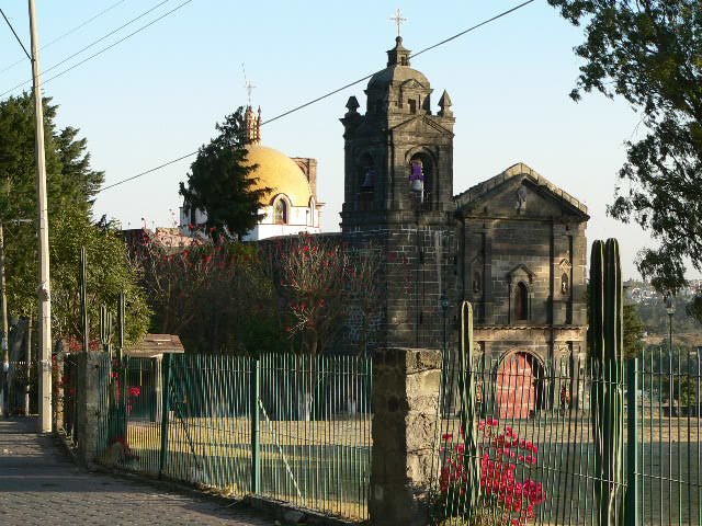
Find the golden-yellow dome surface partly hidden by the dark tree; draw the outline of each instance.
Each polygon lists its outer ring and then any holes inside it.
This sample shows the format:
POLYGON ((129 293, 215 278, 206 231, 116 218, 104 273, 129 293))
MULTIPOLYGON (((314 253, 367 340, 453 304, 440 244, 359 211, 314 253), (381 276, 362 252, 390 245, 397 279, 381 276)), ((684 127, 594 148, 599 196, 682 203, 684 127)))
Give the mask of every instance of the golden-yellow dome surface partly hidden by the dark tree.
POLYGON ((309 182, 301 168, 285 153, 261 145, 247 147, 248 164, 258 164, 251 175, 258 178, 256 190, 273 188, 263 199, 269 203, 278 194, 285 194, 293 206, 307 206, 312 192, 309 182))

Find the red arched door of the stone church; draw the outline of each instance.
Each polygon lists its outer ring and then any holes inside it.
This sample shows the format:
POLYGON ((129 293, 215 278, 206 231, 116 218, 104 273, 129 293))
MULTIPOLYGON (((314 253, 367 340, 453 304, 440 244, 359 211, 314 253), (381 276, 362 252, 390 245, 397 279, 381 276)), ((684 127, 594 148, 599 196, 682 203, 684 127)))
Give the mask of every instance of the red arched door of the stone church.
POLYGON ((512 353, 497 371, 497 404, 500 419, 528 419, 541 404, 542 367, 530 353, 512 353))

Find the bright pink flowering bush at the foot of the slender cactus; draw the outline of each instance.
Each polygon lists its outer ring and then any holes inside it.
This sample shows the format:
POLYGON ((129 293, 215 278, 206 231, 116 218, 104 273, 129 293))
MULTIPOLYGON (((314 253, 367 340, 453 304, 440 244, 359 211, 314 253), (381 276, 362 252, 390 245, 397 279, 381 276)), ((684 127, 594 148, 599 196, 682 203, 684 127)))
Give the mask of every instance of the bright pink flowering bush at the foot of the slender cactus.
MULTIPOLYGON (((539 446, 520 437, 499 421, 479 422, 480 500, 471 516, 474 525, 505 524, 524 526, 536 517, 536 508, 546 501, 543 484, 521 477, 539 462, 539 446)), ((471 462, 465 451, 465 434, 443 435, 444 462, 439 479, 444 515, 467 515, 471 462)))

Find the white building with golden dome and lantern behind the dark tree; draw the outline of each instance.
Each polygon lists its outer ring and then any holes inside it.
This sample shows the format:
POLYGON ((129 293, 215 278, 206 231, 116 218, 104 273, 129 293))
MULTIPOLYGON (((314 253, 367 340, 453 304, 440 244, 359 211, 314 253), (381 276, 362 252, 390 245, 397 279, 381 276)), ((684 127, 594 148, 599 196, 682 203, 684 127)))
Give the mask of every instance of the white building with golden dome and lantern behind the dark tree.
MULTIPOLYGON (((257 165, 250 173, 258 181, 253 188, 272 188, 263 198, 259 210, 263 218, 250 230, 244 241, 301 232, 319 233, 319 218, 324 203, 317 198, 317 160, 287 157, 285 153, 261 145, 261 110, 258 115, 251 106, 246 112, 249 146, 247 162, 257 165)), ((190 226, 197 227, 207 221, 203 210, 191 209, 185 203, 180 208, 180 228, 192 235, 190 226)))

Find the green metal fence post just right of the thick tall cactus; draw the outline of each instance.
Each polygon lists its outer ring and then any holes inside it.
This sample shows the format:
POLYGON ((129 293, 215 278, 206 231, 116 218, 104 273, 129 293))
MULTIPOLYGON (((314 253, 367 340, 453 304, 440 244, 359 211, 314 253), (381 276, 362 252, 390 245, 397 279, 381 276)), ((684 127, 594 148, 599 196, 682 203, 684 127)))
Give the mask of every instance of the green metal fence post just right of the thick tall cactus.
POLYGON ((624 525, 638 526, 638 358, 626 362, 626 498, 624 525))

